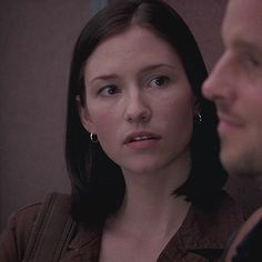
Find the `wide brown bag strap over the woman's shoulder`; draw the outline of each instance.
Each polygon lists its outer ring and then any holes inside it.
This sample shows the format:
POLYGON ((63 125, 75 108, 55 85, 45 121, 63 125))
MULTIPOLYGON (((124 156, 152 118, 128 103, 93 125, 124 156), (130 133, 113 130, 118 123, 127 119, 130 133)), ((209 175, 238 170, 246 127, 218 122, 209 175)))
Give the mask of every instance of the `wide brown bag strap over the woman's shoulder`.
POLYGON ((51 193, 47 196, 37 216, 23 262, 59 261, 75 229, 70 208, 70 195, 51 193))

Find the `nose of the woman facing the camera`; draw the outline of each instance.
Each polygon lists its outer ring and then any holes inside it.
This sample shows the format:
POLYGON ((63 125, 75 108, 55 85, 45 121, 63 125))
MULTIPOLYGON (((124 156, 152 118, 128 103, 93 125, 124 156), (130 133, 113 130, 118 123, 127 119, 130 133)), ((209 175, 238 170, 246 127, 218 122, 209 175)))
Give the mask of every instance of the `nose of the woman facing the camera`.
POLYGON ((124 119, 132 123, 145 123, 151 119, 149 101, 141 93, 130 94, 125 101, 124 119))

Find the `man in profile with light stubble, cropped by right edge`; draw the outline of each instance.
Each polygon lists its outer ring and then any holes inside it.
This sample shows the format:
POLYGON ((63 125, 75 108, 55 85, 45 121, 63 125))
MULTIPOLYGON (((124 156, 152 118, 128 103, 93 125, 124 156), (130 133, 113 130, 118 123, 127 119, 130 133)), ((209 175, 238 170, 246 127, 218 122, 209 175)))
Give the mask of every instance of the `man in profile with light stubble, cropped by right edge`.
MULTIPOLYGON (((230 0, 222 39, 224 53, 203 85, 218 109, 221 161, 230 174, 262 184, 262 1, 230 0)), ((262 209, 234 235, 224 261, 262 261, 262 209)))

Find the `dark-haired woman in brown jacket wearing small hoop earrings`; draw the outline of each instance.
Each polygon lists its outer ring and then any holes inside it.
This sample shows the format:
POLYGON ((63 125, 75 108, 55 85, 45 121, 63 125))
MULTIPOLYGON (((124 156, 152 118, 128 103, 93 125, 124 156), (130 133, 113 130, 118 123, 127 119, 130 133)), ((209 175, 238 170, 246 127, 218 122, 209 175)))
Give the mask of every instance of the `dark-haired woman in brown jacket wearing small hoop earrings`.
POLYGON ((89 21, 68 99, 77 226, 60 259, 219 260, 242 215, 222 190, 205 78, 193 36, 161 1, 114 2, 89 21))

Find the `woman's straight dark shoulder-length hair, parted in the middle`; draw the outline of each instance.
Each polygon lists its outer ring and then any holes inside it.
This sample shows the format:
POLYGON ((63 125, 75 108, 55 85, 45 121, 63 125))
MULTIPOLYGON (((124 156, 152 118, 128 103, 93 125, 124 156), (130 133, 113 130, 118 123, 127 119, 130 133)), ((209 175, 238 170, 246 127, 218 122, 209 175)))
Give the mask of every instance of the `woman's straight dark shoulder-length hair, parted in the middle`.
POLYGON ((125 184, 120 167, 107 157, 99 143, 91 142, 81 124, 75 98, 79 95, 84 105, 83 67, 95 48, 132 24, 151 30, 173 47, 202 115, 202 122, 195 122, 193 128, 190 177, 173 193, 185 195, 193 204, 210 210, 219 204, 226 181, 219 161, 215 109, 201 94, 208 73, 190 29, 160 0, 114 1, 83 28, 74 47, 69 80, 66 158, 72 184, 72 218, 89 225, 103 223, 108 214, 119 209, 125 184))

